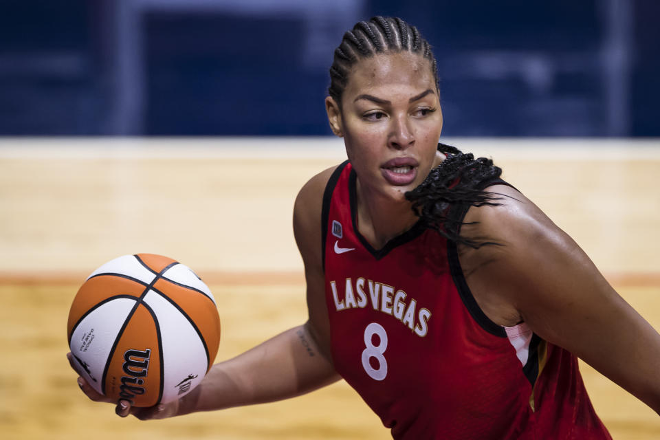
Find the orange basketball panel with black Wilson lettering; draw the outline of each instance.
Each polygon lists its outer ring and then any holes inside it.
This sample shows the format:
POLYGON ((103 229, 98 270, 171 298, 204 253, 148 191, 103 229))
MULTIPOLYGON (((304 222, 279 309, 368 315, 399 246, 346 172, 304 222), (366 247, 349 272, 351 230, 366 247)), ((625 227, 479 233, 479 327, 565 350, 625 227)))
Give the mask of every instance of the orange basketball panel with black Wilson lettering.
POLYGON ((161 369, 153 316, 139 305, 112 355, 105 395, 130 400, 135 406, 153 406, 160 395, 161 369))

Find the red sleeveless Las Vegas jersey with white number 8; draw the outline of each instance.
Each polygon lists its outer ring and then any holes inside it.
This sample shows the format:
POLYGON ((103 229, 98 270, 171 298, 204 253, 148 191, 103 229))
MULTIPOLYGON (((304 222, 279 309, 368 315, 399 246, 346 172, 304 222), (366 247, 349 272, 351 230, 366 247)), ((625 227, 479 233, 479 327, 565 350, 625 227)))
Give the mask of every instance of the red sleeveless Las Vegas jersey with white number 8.
MULTIPOLYGON (((344 162, 323 197, 336 371, 395 439, 610 439, 568 351, 489 320, 456 245, 417 223, 375 250, 344 162)), ((465 207, 467 210, 467 207, 465 207)))

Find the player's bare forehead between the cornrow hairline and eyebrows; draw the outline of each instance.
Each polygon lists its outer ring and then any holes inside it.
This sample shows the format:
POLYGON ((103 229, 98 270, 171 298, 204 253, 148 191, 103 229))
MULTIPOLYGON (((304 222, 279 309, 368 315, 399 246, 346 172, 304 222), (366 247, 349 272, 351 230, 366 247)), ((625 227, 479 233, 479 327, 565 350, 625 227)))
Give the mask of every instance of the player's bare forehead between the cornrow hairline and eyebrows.
POLYGON ((406 87, 435 90, 431 64, 421 55, 408 51, 376 54, 353 65, 345 95, 368 93, 369 90, 406 87))

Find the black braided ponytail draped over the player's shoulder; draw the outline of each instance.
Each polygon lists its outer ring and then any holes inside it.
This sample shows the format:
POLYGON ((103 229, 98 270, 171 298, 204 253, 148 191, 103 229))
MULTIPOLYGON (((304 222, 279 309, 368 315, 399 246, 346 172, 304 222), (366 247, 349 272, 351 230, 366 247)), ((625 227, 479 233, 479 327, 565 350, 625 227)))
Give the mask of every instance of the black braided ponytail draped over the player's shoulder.
POLYGON ((502 170, 492 159, 474 158, 454 146, 438 144, 447 158, 433 168, 417 188, 406 192, 412 210, 426 228, 437 230, 446 239, 478 249, 483 245, 497 245, 492 241, 476 241, 459 234, 463 216, 469 206, 498 206, 496 194, 482 190, 487 181, 494 181, 502 170))

